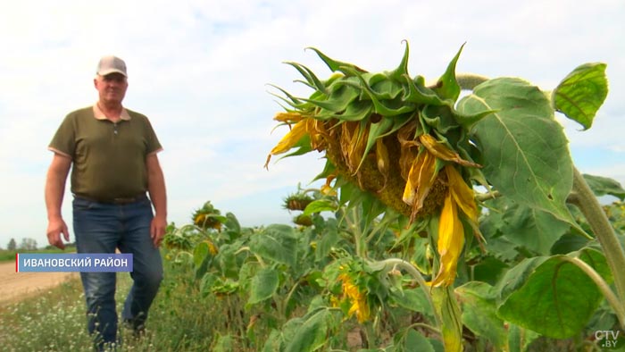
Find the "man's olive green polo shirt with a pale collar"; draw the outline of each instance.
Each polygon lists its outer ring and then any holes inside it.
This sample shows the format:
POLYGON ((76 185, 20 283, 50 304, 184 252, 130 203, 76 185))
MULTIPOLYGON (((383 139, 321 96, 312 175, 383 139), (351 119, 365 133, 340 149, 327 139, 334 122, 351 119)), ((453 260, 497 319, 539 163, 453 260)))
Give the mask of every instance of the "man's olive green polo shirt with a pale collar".
POLYGON ((162 149, 145 115, 113 123, 97 105, 69 113, 48 148, 71 157, 71 193, 100 200, 145 194, 146 156, 162 149))

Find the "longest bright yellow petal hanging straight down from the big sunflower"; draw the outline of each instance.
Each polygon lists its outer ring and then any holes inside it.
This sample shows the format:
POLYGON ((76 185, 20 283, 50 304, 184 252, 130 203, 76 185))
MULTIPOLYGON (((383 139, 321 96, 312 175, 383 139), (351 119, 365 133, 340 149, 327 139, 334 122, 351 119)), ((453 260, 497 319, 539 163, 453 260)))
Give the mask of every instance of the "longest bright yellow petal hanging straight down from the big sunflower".
POLYGON ((454 197, 448 194, 438 222, 437 250, 440 255, 440 267, 432 286, 449 286, 454 283, 462 246, 464 246, 464 229, 458 218, 454 197))

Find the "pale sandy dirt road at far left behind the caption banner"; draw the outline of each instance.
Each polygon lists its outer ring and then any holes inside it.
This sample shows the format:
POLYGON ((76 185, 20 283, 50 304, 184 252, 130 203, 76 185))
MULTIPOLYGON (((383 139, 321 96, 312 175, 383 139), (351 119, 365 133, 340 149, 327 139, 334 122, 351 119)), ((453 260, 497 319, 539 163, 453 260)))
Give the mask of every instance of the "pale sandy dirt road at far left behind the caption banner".
POLYGON ((15 262, 0 263, 0 304, 34 296, 78 278, 78 272, 15 272, 15 262))

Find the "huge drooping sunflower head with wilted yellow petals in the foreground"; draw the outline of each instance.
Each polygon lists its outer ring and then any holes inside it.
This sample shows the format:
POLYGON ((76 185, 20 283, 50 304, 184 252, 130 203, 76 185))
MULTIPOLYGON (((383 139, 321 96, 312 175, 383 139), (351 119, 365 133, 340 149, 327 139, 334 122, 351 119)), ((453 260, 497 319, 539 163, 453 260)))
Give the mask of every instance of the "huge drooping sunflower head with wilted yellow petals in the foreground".
MULTIPOLYGON (((265 168, 272 155, 293 148, 298 149, 291 155, 323 152, 327 163, 320 176, 326 177, 326 191, 332 181, 335 185, 352 183, 410 222, 436 217, 440 260, 431 284, 451 285, 464 245, 462 218, 479 237, 471 179, 481 180, 482 175, 480 165, 472 161, 471 155, 478 151, 468 137, 469 130, 491 113, 466 116, 456 112, 460 86, 454 70, 460 51, 437 84, 428 87, 421 76, 408 75, 407 44, 396 70, 377 73, 312 50, 335 73, 329 80, 319 80, 303 65, 288 63, 315 92, 301 98, 280 89, 287 96, 281 98, 292 109, 274 119, 290 130, 271 149, 265 168)), ((351 200, 359 201, 356 196, 351 200)), ((346 295, 352 292, 352 300, 358 302, 354 288, 344 282, 346 295)), ((358 311, 360 305, 354 305, 354 312, 358 311)))

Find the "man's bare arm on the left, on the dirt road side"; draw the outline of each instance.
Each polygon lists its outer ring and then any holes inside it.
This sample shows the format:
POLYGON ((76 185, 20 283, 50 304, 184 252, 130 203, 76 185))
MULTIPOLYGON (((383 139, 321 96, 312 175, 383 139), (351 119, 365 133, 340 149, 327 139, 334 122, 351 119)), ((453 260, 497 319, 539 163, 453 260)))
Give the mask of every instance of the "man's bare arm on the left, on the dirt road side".
POLYGON ((47 241, 54 247, 65 248, 61 234, 66 241, 70 240, 70 231, 63 221, 61 205, 65 193, 65 181, 70 172, 71 158, 67 155, 54 153, 52 163, 46 176, 46 209, 47 209, 47 241))

